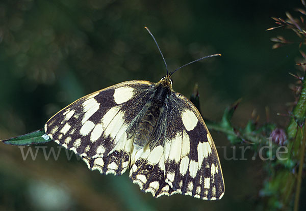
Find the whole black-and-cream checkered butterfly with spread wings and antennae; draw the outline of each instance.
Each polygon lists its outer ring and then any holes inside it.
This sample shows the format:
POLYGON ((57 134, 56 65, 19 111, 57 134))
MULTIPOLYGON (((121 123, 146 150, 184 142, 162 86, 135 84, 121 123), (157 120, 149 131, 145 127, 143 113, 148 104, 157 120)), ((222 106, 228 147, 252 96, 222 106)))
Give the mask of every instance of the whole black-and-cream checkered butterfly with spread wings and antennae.
POLYGON ((130 169, 133 183, 155 198, 220 199, 224 180, 215 144, 197 108, 173 91, 175 71, 157 83, 127 81, 87 95, 51 117, 45 133, 91 170, 121 175, 130 169))

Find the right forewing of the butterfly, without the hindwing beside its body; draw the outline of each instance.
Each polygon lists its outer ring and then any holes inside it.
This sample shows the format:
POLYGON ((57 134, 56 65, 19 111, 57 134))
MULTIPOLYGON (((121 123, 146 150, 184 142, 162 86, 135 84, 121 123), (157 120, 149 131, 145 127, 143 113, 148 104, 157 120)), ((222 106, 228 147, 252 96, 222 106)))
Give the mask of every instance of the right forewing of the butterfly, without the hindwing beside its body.
MULTIPOLYGON (((175 166, 176 173, 173 181, 169 176, 169 183, 171 182, 173 189, 179 193, 182 191, 183 194, 206 200, 219 199, 224 194, 224 182, 211 135, 198 110, 186 97, 179 93, 173 94, 172 97, 171 102, 175 105, 171 113, 176 109, 177 116, 174 118, 177 119, 176 124, 180 126, 181 133, 176 133, 175 137, 169 136, 168 140, 171 146, 177 145, 181 148, 181 156, 179 159, 170 147, 166 162, 173 163, 167 166, 175 166)), ((169 111, 168 116, 170 115, 169 111)), ((169 172, 171 171, 173 172, 173 169, 169 168, 169 172)))

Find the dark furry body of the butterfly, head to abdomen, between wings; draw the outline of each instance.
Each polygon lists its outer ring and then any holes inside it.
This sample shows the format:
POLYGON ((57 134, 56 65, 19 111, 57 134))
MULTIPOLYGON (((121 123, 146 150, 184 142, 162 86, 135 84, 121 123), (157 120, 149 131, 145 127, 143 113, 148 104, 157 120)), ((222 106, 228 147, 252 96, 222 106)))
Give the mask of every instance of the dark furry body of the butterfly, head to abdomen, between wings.
POLYGON ((140 118, 138 127, 135 131, 133 141, 136 150, 144 148, 157 128, 158 120, 165 111, 166 101, 171 93, 172 81, 169 77, 162 78, 154 86, 154 94, 144 106, 143 116, 140 118))

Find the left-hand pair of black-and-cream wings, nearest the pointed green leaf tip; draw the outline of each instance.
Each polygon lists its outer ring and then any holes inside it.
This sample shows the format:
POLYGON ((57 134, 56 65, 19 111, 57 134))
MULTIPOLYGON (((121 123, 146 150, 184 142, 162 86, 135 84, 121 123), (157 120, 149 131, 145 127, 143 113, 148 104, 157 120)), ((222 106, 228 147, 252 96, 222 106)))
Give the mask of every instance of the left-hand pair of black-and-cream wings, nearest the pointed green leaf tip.
POLYGON ((45 133, 73 150, 91 170, 122 174, 132 138, 126 130, 153 92, 149 81, 127 81, 87 95, 50 118, 45 133))

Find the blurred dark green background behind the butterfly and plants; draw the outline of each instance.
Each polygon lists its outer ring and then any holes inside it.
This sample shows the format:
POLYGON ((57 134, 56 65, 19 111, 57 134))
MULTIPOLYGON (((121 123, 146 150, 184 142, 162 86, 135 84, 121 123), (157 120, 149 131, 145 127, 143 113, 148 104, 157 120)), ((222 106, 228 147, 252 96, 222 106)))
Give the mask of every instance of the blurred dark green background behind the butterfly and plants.
MULTIPOLYGON (((287 123, 286 104, 294 101, 300 58, 298 43, 272 50, 271 37, 294 37, 278 29, 300 1, 98 1, 2 0, 0 2, 0 140, 43 127, 46 120, 74 100, 118 82, 156 82, 166 73, 155 35, 174 70, 201 56, 221 53, 177 71, 175 91, 189 97, 198 83, 201 112, 219 120, 227 105, 243 98, 234 124, 243 126, 253 109, 264 123, 287 123)), ((239 158, 225 136, 211 132, 227 158, 239 158)), ((46 152, 57 144, 45 144, 46 152)), ((27 148, 23 148, 27 152, 27 148)), ((36 148, 32 147, 35 153, 36 148)), ((40 148, 35 161, 22 160, 17 146, 0 144, 0 209, 6 210, 261 210, 262 162, 226 160, 219 148, 225 195, 203 201, 173 195, 154 199, 122 176, 89 171, 64 149, 47 161, 40 148)), ((70 153, 70 152, 69 152, 70 153)), ((303 198, 303 196, 301 196, 303 198)), ((301 207, 302 208, 302 207, 301 207)))

